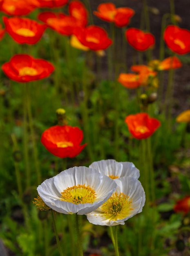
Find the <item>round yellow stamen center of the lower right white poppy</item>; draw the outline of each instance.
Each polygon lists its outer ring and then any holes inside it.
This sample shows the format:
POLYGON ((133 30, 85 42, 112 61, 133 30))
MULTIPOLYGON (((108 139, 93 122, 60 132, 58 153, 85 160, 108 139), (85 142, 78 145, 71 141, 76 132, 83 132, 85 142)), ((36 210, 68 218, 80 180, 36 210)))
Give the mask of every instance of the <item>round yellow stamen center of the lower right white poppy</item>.
POLYGON ((107 219, 120 220, 127 217, 130 214, 130 211, 133 210, 131 204, 132 200, 129 200, 127 195, 123 193, 118 195, 118 193, 115 192, 101 206, 101 211, 104 212, 104 215, 107 219))

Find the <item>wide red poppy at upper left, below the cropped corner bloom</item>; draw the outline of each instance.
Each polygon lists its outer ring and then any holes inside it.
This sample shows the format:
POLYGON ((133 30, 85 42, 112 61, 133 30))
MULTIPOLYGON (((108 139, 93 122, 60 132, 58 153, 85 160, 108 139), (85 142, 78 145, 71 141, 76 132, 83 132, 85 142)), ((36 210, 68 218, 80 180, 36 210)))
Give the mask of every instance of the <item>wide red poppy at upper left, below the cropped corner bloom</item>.
POLYGON ((40 25, 29 18, 3 17, 3 21, 9 35, 20 44, 33 45, 37 43, 47 27, 47 25, 40 25))

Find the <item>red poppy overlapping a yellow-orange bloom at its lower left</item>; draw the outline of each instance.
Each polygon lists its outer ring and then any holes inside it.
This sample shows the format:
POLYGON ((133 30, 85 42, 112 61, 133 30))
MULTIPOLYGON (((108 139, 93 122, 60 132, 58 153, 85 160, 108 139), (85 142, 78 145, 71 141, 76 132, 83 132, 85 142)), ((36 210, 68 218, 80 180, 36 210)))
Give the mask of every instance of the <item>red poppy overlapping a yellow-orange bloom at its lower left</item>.
POLYGON ((79 42, 93 51, 104 50, 112 44, 107 32, 98 26, 82 27, 74 30, 79 42))

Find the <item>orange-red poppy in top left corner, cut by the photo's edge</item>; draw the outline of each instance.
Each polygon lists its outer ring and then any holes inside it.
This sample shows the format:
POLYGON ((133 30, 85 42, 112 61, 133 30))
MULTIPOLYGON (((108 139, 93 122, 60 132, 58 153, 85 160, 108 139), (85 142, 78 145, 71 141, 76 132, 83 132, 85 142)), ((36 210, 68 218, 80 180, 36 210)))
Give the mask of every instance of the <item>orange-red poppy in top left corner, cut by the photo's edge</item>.
POLYGON ((8 15, 27 15, 39 6, 38 0, 4 0, 1 11, 8 15))

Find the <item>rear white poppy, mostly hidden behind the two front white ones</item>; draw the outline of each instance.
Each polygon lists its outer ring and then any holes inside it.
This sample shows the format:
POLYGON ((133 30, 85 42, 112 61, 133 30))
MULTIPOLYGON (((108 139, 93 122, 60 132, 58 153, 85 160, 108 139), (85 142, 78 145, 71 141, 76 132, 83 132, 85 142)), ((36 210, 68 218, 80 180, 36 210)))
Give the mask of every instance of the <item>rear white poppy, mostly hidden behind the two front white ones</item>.
POLYGON ((117 179, 125 176, 131 176, 136 179, 139 178, 139 170, 131 162, 116 162, 114 159, 101 160, 93 162, 90 168, 98 170, 111 179, 117 179))

